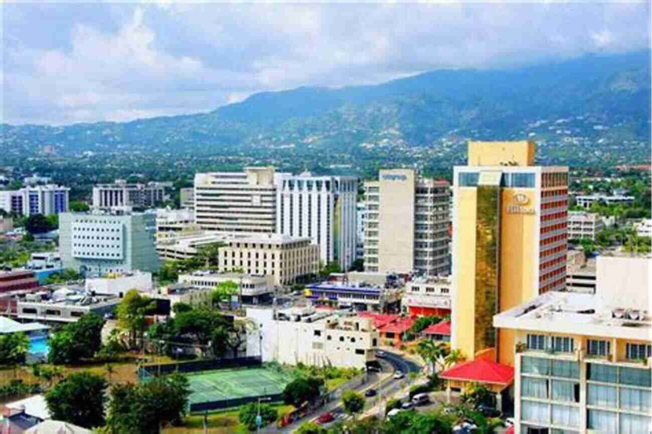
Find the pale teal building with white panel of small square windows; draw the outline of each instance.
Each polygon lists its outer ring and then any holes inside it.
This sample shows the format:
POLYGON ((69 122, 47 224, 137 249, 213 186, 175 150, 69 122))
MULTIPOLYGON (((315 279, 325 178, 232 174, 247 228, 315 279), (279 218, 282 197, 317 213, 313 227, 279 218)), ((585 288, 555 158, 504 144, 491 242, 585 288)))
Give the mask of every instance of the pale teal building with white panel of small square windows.
POLYGON ((156 272, 156 214, 85 214, 59 216, 59 252, 63 267, 82 274, 156 272))

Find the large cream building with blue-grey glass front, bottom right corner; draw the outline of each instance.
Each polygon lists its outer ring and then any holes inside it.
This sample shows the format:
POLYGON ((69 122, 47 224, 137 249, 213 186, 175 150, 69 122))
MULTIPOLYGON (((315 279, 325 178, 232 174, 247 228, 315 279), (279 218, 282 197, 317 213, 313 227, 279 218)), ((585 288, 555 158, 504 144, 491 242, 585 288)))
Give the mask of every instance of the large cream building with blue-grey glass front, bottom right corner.
POLYGON ((514 332, 521 434, 652 429, 650 259, 599 257, 597 293, 546 293, 499 313, 514 332))

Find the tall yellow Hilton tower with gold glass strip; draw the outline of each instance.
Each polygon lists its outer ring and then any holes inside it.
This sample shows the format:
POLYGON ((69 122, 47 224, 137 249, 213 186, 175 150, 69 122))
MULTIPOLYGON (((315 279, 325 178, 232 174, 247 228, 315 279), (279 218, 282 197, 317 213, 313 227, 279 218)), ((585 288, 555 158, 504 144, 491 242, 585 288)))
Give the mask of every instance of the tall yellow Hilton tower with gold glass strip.
POLYGON ((532 141, 470 141, 453 171, 452 345, 496 371, 513 370, 514 334, 494 315, 565 289, 568 167, 534 166, 534 154, 532 141))

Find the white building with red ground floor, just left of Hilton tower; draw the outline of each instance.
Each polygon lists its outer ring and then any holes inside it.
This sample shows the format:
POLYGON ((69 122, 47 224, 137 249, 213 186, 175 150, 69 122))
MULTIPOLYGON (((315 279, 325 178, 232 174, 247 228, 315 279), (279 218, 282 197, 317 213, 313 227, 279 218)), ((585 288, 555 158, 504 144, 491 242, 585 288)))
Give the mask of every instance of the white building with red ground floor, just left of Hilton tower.
POLYGON ((451 277, 420 278, 408 282, 401 306, 410 315, 451 315, 451 277))

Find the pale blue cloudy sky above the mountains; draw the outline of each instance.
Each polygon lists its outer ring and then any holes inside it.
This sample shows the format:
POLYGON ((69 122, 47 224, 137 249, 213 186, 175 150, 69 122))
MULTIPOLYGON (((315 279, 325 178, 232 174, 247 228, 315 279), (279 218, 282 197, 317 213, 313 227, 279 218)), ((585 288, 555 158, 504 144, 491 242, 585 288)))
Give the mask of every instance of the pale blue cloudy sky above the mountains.
POLYGON ((378 83, 650 45, 644 3, 0 3, 3 121, 209 111, 265 90, 378 83))

